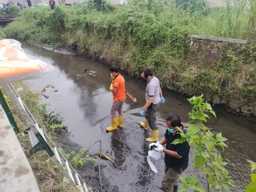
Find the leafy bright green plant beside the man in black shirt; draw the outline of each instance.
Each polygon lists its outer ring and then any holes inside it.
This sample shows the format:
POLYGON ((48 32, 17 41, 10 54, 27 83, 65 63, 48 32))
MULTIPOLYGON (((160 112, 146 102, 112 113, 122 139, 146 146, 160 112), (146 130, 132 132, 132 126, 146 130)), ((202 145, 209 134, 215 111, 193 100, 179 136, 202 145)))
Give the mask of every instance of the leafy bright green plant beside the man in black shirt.
MULTIPOLYGON (((203 95, 193 96, 188 101, 193 105, 193 109, 189 113, 191 121, 189 122, 187 133, 184 134, 183 130, 179 129, 181 139, 176 139, 172 144, 187 141, 193 148, 196 152, 194 158, 195 170, 200 170, 201 174, 206 175, 208 192, 214 192, 215 190, 221 192, 223 188, 229 191, 230 187, 234 186, 234 182, 225 169, 227 163, 222 161, 222 156, 217 150, 217 147, 221 147, 224 150, 227 147, 224 142, 228 139, 222 137, 221 133, 212 133, 203 124, 209 118, 206 113, 211 113, 216 117, 211 105, 204 101, 203 95)), ((180 176, 180 179, 183 181, 181 192, 185 192, 188 188, 199 192, 205 191, 200 188, 200 181, 195 176, 187 178, 180 176)))

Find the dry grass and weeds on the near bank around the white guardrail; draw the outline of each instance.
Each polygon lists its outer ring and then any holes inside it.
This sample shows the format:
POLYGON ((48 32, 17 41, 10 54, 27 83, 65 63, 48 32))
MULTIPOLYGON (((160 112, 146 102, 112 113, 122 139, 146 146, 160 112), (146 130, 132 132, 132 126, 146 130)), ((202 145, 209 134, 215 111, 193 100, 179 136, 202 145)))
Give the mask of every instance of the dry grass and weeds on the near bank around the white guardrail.
MULTIPOLYGON (((38 124, 41 128, 47 133, 52 141, 55 142, 56 129, 52 129, 53 125, 62 125, 62 118, 59 114, 54 114, 49 112, 46 109, 46 104, 40 103, 39 95, 45 92, 33 91, 30 89, 28 84, 24 83, 15 83, 16 88, 21 88, 19 95, 23 99, 26 106, 33 113, 34 117, 37 119, 38 124), (57 116, 57 118, 56 118, 57 116), (61 118, 61 119, 60 119, 61 118)), ((49 87, 49 86, 48 86, 49 87)), ((14 120, 17 123, 17 126, 20 129, 20 133, 17 134, 17 137, 24 149, 24 153, 28 158, 28 161, 33 169, 37 183, 40 187, 41 192, 78 192, 79 190, 74 187, 69 181, 65 180, 63 175, 60 172, 60 169, 54 164, 53 161, 49 158, 49 155, 46 151, 39 151, 34 155, 29 154, 31 149, 31 142, 26 134, 23 131, 28 127, 26 122, 23 120, 19 111, 15 106, 12 106, 10 99, 5 96, 7 99, 8 106, 12 111, 14 120)), ((63 125, 62 125, 63 126, 63 125)), ((59 130, 57 130, 59 131, 59 130)), ((61 148, 60 148, 61 149, 61 148)), ((62 150, 63 152, 63 150, 62 150)), ((70 154, 65 154, 69 156, 73 162, 74 166, 83 165, 88 161, 95 161, 88 155, 85 155, 85 149, 80 149, 79 153, 72 152, 70 154), (82 162, 81 162, 82 161, 82 162)))

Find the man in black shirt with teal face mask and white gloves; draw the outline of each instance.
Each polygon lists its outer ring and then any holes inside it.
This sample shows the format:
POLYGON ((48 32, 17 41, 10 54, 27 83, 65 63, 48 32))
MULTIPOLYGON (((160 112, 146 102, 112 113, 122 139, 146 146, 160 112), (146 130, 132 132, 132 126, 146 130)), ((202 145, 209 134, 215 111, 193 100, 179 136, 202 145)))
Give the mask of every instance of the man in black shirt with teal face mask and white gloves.
MULTIPOLYGON (((159 141, 156 151, 165 153, 164 177, 161 188, 164 192, 176 192, 178 189, 179 175, 188 167, 189 149, 188 142, 180 144, 171 144, 175 139, 180 139, 177 134, 177 127, 183 129, 181 119, 176 115, 170 115, 166 119, 167 130, 164 137, 159 141), (166 144, 166 149, 162 145, 166 144)), ((186 130, 183 130, 186 133, 186 130)))

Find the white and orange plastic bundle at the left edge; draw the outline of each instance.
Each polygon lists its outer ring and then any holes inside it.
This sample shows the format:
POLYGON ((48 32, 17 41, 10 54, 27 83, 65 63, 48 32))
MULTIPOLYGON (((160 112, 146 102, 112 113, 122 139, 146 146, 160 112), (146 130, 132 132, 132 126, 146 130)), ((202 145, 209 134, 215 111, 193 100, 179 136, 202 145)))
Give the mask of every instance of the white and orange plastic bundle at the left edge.
POLYGON ((26 55, 19 41, 0 40, 0 84, 41 78, 53 69, 52 65, 26 55))

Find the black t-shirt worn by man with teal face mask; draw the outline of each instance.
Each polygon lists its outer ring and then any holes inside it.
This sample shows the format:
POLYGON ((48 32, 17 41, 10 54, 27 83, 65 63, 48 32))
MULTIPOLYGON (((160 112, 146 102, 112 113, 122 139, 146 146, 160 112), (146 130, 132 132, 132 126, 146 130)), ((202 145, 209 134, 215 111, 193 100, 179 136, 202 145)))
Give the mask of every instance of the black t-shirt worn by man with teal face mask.
MULTIPOLYGON (((186 130, 183 130, 183 132, 186 133, 186 130)), ((180 170, 183 168, 183 170, 185 170, 188 167, 189 159, 190 146, 188 142, 184 142, 182 144, 171 144, 175 139, 180 139, 181 135, 178 133, 173 135, 172 133, 168 132, 168 130, 166 130, 164 136, 167 139, 166 149, 175 151, 179 156, 182 156, 182 158, 178 159, 165 154, 164 162, 166 167, 173 168, 175 170, 180 170)))

